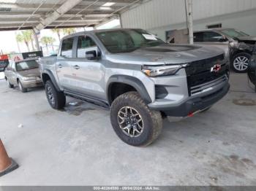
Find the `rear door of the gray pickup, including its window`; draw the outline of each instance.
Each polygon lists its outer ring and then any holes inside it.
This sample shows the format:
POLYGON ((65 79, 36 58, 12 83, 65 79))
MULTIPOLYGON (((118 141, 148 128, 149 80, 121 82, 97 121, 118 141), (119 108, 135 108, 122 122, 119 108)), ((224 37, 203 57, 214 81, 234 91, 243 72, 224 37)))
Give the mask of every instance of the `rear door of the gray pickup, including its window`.
POLYGON ((59 85, 68 91, 75 90, 75 84, 72 81, 72 62, 74 37, 63 39, 61 43, 60 54, 57 58, 56 71, 59 78, 59 85))

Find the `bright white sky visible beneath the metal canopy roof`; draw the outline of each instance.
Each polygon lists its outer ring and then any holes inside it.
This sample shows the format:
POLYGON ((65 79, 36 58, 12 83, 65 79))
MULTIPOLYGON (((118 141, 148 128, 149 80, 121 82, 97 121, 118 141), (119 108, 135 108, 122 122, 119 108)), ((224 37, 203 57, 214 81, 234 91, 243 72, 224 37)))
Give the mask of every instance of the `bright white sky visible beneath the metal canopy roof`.
MULTIPOLYGON (((102 26, 99 26, 97 29, 106 29, 106 28, 115 28, 120 25, 119 20, 111 20, 108 23, 103 24, 102 26)), ((76 31, 83 31, 83 28, 76 28, 76 31)), ((18 44, 16 42, 16 34, 18 34, 19 31, 0 31, 0 52, 3 52, 4 54, 10 53, 10 52, 19 52, 18 51, 18 44)), ((40 31, 39 34, 39 40, 42 38, 42 36, 51 36, 56 41, 53 43, 56 47, 59 46, 59 38, 57 34, 53 33, 50 29, 44 29, 40 31)), ((61 34, 61 37, 63 37, 64 34, 61 34)), ((20 45, 20 52, 28 52, 26 44, 25 43, 19 43, 20 45)), ((31 48, 31 44, 29 44, 31 48)), ((42 46, 42 44, 40 44, 42 46)))

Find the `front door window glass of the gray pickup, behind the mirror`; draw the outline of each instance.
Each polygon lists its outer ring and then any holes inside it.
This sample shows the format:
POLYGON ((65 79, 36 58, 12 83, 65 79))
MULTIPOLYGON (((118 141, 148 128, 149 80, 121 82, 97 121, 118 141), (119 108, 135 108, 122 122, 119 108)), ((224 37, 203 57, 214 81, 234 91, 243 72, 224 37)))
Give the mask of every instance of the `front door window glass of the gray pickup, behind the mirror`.
POLYGON ((86 52, 96 50, 97 44, 89 36, 78 37, 78 58, 86 58, 86 52))

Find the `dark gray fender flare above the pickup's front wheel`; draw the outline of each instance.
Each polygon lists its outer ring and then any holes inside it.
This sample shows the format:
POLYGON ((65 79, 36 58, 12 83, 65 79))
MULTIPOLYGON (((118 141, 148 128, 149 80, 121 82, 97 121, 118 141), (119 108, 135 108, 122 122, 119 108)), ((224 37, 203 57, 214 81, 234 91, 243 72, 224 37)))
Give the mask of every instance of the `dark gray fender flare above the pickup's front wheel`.
POLYGON ((143 82, 140 81, 140 79, 136 78, 136 77, 130 77, 127 75, 113 75, 112 77, 110 77, 110 79, 108 79, 108 83, 107 83, 107 96, 108 96, 108 103, 111 105, 113 100, 111 98, 111 91, 112 91, 112 85, 114 83, 123 83, 124 85, 129 85, 131 87, 133 87, 141 96, 141 98, 143 98, 143 101, 146 102, 146 104, 151 103, 151 98, 148 95, 148 91, 146 90, 146 87, 143 85, 143 82))

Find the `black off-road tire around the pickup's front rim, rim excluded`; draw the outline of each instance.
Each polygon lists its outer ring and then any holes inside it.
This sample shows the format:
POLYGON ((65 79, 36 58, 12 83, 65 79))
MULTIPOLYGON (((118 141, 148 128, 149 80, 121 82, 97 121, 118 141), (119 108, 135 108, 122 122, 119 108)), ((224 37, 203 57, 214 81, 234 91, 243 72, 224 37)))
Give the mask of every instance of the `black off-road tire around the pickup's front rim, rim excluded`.
POLYGON ((150 110, 137 92, 124 93, 113 101, 110 107, 110 120, 117 136, 125 143, 137 147, 151 144, 162 130, 161 113, 150 110), (118 112, 124 106, 136 109, 143 119, 143 131, 138 137, 127 136, 119 127, 118 112))

